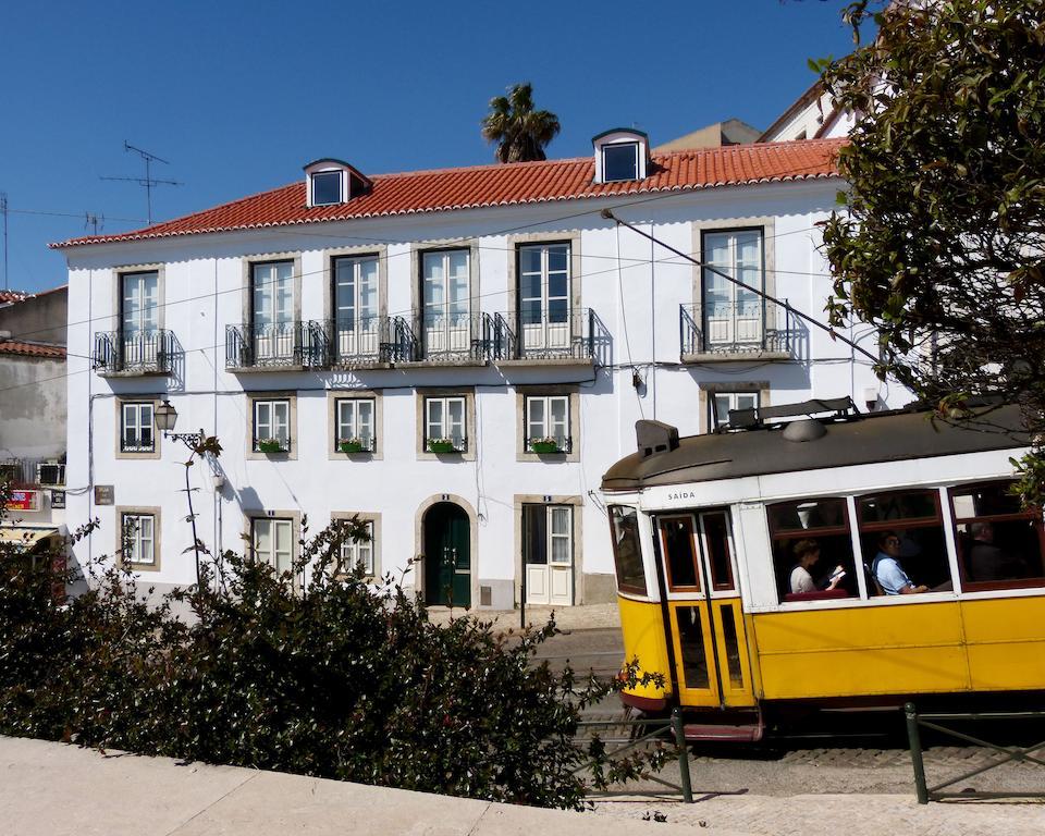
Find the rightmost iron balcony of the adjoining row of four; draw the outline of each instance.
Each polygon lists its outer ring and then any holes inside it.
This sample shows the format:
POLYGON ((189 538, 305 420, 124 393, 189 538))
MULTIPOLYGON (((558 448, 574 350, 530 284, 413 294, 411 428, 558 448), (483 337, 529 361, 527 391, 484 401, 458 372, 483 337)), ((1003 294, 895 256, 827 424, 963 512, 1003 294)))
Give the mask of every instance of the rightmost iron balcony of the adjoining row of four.
POLYGON ((591 308, 531 309, 494 316, 500 364, 604 365, 610 333, 591 308))

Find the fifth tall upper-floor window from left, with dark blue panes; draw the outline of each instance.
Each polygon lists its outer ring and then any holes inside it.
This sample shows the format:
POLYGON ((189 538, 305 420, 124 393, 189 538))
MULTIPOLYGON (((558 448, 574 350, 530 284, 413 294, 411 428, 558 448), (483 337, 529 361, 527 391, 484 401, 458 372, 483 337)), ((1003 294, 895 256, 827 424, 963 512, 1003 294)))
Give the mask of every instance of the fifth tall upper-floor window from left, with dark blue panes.
POLYGON ((522 349, 570 347, 569 244, 519 247, 519 330, 522 349))

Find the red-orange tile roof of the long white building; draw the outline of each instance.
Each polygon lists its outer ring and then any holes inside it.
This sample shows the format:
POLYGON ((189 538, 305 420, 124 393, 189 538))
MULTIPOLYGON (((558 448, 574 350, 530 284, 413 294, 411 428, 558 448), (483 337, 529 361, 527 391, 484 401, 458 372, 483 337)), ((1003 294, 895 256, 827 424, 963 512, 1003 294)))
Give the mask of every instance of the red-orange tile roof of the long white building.
POLYGON ((303 179, 143 230, 72 238, 51 246, 75 247, 322 221, 831 177, 838 173, 836 151, 844 142, 735 145, 659 155, 653 157, 650 176, 623 183, 592 183, 594 160, 591 157, 379 174, 367 194, 346 204, 311 208, 305 206, 303 179))

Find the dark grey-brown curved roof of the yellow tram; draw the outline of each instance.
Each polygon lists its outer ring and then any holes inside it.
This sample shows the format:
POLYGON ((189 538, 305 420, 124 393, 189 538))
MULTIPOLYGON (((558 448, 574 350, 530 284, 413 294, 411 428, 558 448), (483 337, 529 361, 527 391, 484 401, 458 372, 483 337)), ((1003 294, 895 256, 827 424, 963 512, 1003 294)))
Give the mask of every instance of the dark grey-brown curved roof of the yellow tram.
POLYGON ((710 482, 763 474, 900 462, 913 458, 1012 450, 1030 444, 1019 408, 1003 406, 979 425, 933 420, 925 409, 870 413, 822 420, 826 432, 811 441, 789 441, 788 425, 679 439, 678 446, 653 455, 632 453, 602 478, 605 491, 628 491, 684 482, 710 482), (1007 428, 1008 431, 1003 431, 1007 428))

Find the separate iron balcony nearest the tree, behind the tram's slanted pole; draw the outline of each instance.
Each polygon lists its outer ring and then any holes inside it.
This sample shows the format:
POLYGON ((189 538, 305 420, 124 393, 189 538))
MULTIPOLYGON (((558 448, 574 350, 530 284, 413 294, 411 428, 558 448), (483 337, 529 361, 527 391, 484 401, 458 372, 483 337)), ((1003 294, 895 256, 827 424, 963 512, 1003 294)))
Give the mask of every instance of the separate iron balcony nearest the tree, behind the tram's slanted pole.
POLYGON ((787 299, 680 305, 678 314, 683 362, 786 360, 796 348, 798 317, 787 299))

